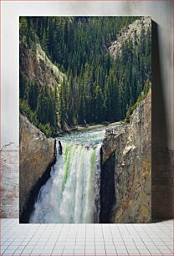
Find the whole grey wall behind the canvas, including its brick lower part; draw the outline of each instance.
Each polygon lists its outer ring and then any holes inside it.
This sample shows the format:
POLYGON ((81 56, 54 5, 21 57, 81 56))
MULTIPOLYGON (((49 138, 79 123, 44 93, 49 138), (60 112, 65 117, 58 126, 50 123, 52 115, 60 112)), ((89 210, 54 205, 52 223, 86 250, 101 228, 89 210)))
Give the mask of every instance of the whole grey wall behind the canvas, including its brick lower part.
POLYGON ((1 217, 18 218, 18 16, 146 15, 151 16, 153 21, 152 214, 154 218, 170 218, 173 214, 171 158, 174 146, 173 49, 171 49, 173 3, 170 1, 50 1, 49 3, 3 1, 1 5, 1 148, 3 148, 1 217))

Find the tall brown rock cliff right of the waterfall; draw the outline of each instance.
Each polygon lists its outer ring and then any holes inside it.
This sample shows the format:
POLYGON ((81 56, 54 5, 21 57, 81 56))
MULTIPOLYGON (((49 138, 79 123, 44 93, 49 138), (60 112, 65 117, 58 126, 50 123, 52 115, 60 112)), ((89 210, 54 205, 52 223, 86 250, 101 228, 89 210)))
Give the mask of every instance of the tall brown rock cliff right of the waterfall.
MULTIPOLYGON (((137 105, 130 125, 118 134, 105 136, 102 145, 102 172, 114 172, 115 203, 108 212, 111 223, 151 221, 151 90, 137 105), (115 156, 115 166, 107 166, 115 156)), ((112 177, 112 176, 111 176, 112 177)), ((105 183, 103 179, 102 183, 105 183)), ((109 191, 110 193, 110 191, 109 191)), ((110 195, 105 195, 109 197, 110 195)), ((108 206, 103 204, 101 209, 108 206)), ((104 211, 103 210, 103 211, 104 211)))

